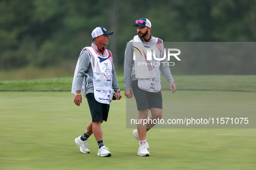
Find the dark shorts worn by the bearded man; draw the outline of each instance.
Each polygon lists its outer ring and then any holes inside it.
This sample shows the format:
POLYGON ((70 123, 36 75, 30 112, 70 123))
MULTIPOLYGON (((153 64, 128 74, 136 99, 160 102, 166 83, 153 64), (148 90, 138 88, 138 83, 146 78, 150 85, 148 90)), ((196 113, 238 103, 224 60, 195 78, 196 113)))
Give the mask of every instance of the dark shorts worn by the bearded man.
POLYGON ((145 110, 150 108, 162 109, 162 93, 161 91, 149 92, 138 87, 138 80, 132 81, 133 96, 136 99, 137 109, 145 110))

